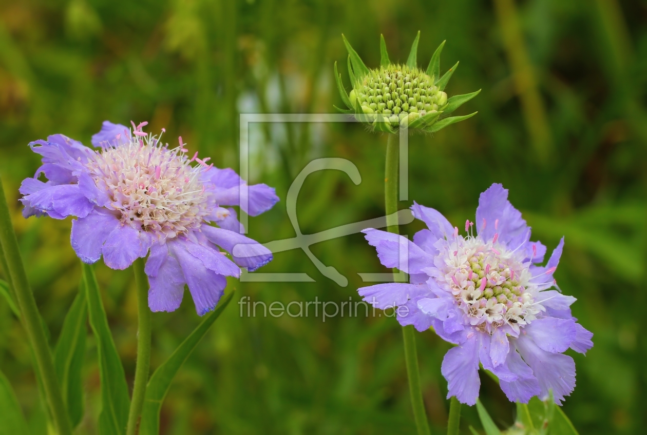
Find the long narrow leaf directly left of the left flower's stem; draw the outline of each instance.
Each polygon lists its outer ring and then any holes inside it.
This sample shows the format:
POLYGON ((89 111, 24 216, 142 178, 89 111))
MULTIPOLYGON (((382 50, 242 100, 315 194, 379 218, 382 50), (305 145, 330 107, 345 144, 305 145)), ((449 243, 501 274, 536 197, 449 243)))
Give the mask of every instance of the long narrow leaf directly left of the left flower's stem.
POLYGON ((83 264, 83 282, 87 290, 87 308, 90 326, 96 339, 99 354, 102 408, 99 415, 100 435, 121 435, 126 432, 130 398, 124 367, 119 359, 115 341, 110 334, 101 301, 99 286, 90 264, 83 264))

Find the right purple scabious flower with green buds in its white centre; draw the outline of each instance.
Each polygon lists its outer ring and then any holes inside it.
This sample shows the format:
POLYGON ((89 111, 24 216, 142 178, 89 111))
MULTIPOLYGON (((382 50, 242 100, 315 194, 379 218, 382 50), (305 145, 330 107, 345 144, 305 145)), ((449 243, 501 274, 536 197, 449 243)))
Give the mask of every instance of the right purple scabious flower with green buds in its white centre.
POLYGON ((493 184, 481 193, 475 224, 465 237, 435 209, 415 204, 424 221, 410 240, 365 229, 380 262, 410 274, 410 284, 388 283, 358 292, 376 308, 397 308, 400 324, 418 331, 433 327, 457 345, 444 356, 441 372, 447 398, 474 405, 479 395, 479 363, 499 377, 510 401, 528 403, 533 396, 561 405, 575 388, 575 362, 568 348, 586 354, 593 334, 576 323, 553 278, 564 239, 545 266, 546 247, 531 242, 531 228, 508 201, 508 191, 493 184))

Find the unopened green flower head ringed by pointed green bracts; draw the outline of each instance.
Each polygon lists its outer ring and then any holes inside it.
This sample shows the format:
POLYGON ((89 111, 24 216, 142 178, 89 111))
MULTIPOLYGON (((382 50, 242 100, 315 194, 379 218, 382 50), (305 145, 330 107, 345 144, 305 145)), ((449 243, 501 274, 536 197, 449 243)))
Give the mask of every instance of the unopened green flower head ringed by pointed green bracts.
POLYGON ((353 47, 344 37, 349 53, 348 70, 353 90, 346 94, 335 63, 335 78, 342 100, 348 109, 342 113, 355 114, 360 122, 369 123, 378 131, 395 133, 400 127, 422 129, 433 133, 446 125, 470 118, 454 116, 439 121, 441 115, 455 111, 465 101, 474 98, 480 91, 447 98, 444 87, 454 73, 458 63, 444 76, 440 76, 440 55, 444 42, 433 54, 426 71, 416 65, 418 40, 413 46, 409 59, 404 65, 389 61, 384 37, 381 38, 382 59, 378 69, 368 69, 353 47))

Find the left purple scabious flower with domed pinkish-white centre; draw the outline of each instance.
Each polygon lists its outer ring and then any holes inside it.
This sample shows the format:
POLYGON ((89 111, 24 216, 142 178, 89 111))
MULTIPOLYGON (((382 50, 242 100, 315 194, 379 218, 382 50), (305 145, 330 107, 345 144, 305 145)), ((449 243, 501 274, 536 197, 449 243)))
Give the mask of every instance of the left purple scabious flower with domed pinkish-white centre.
POLYGON ((236 211, 223 206, 256 216, 279 198, 272 187, 247 186, 232 169, 207 165, 209 158, 189 158, 182 138, 175 148, 162 144, 161 134, 142 132, 146 124, 129 129, 105 121, 92 137, 98 150, 62 134, 30 143, 43 165, 20 187, 23 215, 76 217, 72 248, 86 263, 103 255, 109 268, 126 269, 150 252, 150 309, 177 310, 186 284, 204 315, 223 295, 226 277, 272 260, 269 249, 241 234, 236 211), (245 257, 232 254, 236 245, 245 257))

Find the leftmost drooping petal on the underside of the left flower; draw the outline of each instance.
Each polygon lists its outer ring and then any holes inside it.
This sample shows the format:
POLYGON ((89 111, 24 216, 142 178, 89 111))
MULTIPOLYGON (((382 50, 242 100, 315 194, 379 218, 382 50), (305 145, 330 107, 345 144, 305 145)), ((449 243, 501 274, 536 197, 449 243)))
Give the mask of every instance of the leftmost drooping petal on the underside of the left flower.
POLYGON ((120 226, 119 220, 101 209, 72 220, 72 249, 83 262, 92 264, 101 258, 102 246, 110 233, 120 226))

